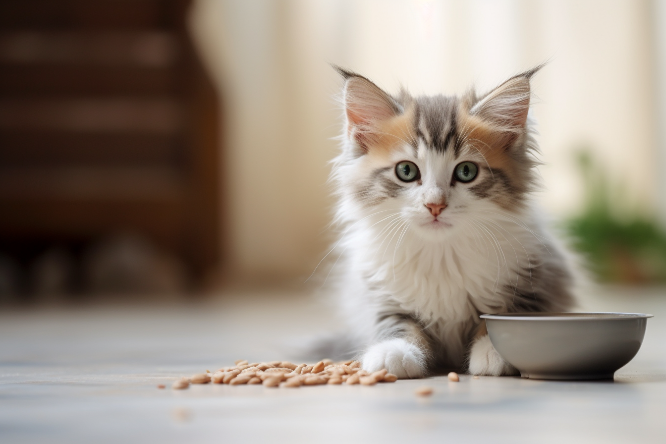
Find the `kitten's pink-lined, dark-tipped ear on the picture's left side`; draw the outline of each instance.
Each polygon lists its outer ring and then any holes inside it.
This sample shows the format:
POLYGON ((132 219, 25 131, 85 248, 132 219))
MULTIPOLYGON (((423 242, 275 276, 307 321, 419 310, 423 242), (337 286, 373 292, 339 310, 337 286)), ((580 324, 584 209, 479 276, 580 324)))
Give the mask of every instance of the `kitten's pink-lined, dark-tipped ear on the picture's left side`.
POLYGON ((358 146, 358 154, 382 136, 379 124, 402 112, 402 107, 380 87, 356 73, 334 66, 344 79, 344 111, 347 134, 358 146))

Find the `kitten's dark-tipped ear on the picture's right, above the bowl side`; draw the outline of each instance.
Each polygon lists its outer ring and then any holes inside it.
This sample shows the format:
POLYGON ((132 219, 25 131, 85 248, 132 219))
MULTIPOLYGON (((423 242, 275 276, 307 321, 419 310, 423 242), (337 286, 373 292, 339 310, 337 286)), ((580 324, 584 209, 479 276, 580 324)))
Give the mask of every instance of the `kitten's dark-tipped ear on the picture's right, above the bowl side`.
POLYGON ((478 116, 502 132, 521 132, 525 128, 529 111, 529 79, 542 66, 511 77, 474 105, 470 114, 478 116))

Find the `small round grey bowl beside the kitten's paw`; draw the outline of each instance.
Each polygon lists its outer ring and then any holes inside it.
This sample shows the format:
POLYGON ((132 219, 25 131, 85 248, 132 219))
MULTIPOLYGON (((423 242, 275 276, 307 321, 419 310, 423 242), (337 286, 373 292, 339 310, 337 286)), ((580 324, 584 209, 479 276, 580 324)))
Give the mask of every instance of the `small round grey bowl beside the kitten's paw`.
POLYGON ((647 318, 640 313, 484 314, 500 356, 531 379, 611 379, 636 355, 647 318))

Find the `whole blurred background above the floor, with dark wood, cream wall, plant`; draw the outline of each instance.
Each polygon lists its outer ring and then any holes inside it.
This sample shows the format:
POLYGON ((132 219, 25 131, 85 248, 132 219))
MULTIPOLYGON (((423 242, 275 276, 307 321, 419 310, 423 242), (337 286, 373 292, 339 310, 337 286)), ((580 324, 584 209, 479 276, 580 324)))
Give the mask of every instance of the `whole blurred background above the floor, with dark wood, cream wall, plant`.
POLYGON ((602 282, 666 281, 666 3, 4 0, 0 301, 302 285, 334 234, 340 79, 533 81, 545 212, 602 282))

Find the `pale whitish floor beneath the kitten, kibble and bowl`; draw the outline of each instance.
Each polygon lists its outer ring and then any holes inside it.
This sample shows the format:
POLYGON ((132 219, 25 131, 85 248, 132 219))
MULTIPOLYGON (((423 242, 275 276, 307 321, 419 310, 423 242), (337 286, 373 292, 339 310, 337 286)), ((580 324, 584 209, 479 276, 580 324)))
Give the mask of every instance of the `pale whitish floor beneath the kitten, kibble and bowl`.
POLYGON ((459 383, 160 390, 235 359, 293 357, 299 337, 335 326, 330 310, 284 292, 182 306, 1 309, 0 442, 665 443, 666 292, 604 293, 584 308, 655 315, 612 382, 462 375, 459 383), (421 385, 434 395, 414 395, 421 385))

